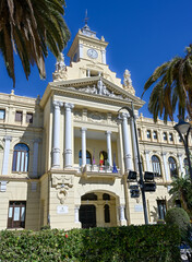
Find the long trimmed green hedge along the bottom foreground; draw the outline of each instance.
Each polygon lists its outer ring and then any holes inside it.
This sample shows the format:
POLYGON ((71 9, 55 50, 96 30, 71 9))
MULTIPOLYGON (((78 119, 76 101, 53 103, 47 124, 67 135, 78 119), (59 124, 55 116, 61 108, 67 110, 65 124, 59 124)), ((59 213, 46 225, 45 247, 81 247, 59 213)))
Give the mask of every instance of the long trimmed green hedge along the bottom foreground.
POLYGON ((34 231, 0 231, 0 261, 176 262, 176 226, 143 225, 34 231))

